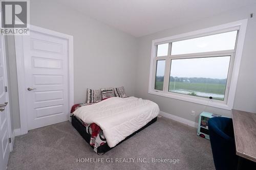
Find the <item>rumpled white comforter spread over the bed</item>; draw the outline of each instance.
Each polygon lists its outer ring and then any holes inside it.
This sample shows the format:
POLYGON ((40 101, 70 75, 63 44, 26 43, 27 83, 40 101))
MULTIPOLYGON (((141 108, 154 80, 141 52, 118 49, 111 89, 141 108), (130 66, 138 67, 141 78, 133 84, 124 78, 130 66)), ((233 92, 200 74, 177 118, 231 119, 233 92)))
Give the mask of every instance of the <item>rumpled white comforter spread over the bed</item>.
POLYGON ((155 118, 159 114, 159 107, 149 100, 115 97, 82 106, 73 114, 84 123, 97 124, 112 148, 155 118))

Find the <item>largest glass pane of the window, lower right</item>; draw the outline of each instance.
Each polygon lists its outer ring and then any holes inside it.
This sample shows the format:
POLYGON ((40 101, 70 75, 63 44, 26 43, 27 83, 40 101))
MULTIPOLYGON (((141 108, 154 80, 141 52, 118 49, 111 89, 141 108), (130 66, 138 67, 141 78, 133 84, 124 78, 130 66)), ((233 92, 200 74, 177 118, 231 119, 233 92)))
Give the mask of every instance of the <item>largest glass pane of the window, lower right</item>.
POLYGON ((230 56, 173 59, 168 91, 224 100, 230 56))

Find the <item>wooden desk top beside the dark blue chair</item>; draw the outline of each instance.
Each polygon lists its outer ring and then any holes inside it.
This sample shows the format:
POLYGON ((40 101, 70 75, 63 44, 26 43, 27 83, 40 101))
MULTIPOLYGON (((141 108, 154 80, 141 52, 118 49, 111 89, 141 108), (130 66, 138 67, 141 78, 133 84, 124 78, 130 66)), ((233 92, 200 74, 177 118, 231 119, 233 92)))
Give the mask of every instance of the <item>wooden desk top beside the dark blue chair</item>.
POLYGON ((237 155, 256 162, 256 113, 232 110, 237 155))

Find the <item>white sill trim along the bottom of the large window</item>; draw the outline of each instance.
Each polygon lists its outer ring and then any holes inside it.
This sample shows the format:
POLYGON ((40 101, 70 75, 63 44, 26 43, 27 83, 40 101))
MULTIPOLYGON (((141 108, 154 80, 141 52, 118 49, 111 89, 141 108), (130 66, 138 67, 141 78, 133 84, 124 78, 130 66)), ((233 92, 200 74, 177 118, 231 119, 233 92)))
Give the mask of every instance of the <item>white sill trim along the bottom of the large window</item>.
POLYGON ((148 93, 164 96, 166 98, 172 98, 172 99, 177 99, 177 100, 181 100, 181 101, 196 103, 196 104, 200 104, 200 105, 206 105, 206 106, 216 107, 216 108, 225 109, 225 110, 231 110, 231 107, 228 106, 227 104, 218 103, 215 101, 196 99, 193 97, 175 95, 175 94, 170 94, 170 93, 163 93, 163 92, 154 91, 154 90, 148 90, 148 93))

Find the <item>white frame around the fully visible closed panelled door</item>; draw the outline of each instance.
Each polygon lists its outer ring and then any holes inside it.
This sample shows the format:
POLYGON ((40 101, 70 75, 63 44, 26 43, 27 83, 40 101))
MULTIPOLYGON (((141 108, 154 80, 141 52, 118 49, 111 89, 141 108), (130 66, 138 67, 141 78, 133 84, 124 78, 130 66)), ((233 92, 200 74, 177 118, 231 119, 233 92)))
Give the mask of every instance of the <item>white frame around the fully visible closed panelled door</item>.
MULTIPOLYGON (((30 30, 49 34, 51 36, 60 37, 68 40, 68 94, 69 94, 69 112, 74 105, 74 60, 73 60, 73 36, 59 33, 49 29, 40 28, 30 25, 30 30)), ((28 133, 28 114, 25 86, 25 66, 24 66, 24 52, 23 52, 23 36, 16 35, 15 51, 16 51, 16 67, 17 67, 17 83, 18 83, 18 100, 19 100, 19 119, 20 119, 20 134, 28 133)), ((70 119, 69 119, 70 120, 70 119)))

